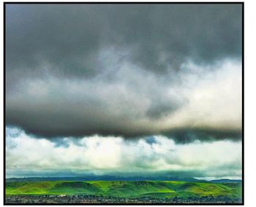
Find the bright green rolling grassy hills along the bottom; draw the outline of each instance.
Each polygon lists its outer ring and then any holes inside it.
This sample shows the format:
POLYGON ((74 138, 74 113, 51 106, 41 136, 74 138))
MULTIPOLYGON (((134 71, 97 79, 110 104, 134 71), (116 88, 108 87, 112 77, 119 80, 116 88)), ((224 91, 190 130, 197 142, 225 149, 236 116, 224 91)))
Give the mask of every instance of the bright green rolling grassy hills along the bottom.
POLYGON ((241 184, 216 184, 184 181, 39 181, 10 182, 7 195, 108 195, 138 198, 187 198, 225 195, 241 198, 241 184))

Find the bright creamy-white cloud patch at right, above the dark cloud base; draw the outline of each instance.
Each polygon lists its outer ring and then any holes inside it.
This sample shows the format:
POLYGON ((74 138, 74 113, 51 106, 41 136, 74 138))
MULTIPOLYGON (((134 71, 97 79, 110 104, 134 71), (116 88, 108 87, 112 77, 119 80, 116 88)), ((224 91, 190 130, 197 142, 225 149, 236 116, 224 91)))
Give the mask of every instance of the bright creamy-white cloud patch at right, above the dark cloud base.
POLYGON ((217 69, 211 67, 184 65, 181 87, 188 104, 166 117, 166 128, 241 130, 241 63, 225 60, 213 66, 217 69))

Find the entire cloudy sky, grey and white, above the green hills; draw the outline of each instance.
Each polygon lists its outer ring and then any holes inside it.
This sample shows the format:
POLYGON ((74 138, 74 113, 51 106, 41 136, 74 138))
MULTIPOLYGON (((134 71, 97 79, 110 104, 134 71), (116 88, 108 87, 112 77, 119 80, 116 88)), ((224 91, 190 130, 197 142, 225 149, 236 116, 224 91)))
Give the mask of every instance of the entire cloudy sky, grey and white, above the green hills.
POLYGON ((241 10, 7 4, 7 177, 241 179, 241 10))

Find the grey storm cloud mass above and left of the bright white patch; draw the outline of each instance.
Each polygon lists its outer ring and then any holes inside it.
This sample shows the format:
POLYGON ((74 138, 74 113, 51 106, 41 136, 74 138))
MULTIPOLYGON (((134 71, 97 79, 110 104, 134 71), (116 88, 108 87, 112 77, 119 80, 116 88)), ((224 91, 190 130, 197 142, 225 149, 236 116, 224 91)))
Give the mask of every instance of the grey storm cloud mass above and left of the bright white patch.
POLYGON ((10 4, 6 25, 7 125, 36 136, 162 133, 183 63, 241 58, 238 4, 10 4))

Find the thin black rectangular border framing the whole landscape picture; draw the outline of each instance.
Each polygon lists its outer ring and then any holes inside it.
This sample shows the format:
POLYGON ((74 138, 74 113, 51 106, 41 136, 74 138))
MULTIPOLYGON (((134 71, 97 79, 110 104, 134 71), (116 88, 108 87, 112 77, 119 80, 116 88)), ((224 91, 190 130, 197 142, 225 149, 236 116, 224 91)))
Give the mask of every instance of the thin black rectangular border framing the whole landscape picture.
POLYGON ((113 206, 244 206, 244 1, 4 1, 3 2, 3 14, 4 14, 4 39, 3 39, 3 45, 4 45, 4 70, 3 70, 3 77, 4 77, 4 126, 3 126, 3 138, 4 138, 4 206, 101 206, 101 205, 113 205, 113 206), (6 186, 5 186, 5 180, 6 180, 6 172, 5 172, 5 166, 6 166, 6 79, 5 79, 5 70, 6 70, 6 5, 7 4, 241 4, 241 18, 242 18, 242 48, 241 48, 241 58, 242 58, 242 203, 6 203, 6 186))

